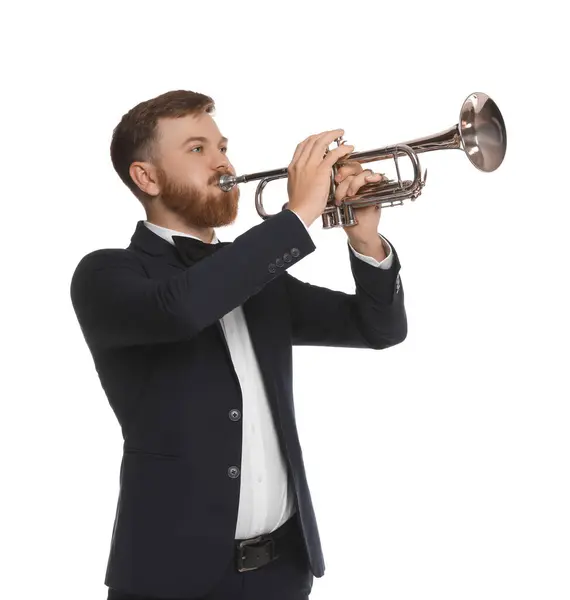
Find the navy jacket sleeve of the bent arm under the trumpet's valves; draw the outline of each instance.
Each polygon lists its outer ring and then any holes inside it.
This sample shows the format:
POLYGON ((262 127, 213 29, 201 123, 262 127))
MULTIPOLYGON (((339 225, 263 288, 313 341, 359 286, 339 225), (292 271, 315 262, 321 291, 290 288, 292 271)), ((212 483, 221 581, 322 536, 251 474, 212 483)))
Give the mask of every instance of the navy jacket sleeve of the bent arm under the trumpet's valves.
POLYGON ((292 343, 381 350, 404 341, 407 318, 400 261, 394 247, 389 269, 355 256, 347 245, 354 294, 312 285, 284 274, 291 313, 292 343))

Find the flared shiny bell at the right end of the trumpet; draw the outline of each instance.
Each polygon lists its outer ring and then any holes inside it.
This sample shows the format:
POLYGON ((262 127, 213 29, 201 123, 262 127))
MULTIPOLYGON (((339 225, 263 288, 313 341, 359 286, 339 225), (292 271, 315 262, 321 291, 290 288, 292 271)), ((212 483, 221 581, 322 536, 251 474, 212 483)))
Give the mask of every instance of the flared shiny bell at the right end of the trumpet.
POLYGON ((499 107, 487 94, 476 92, 465 99, 457 128, 473 166, 486 173, 499 168, 507 151, 507 132, 499 107))

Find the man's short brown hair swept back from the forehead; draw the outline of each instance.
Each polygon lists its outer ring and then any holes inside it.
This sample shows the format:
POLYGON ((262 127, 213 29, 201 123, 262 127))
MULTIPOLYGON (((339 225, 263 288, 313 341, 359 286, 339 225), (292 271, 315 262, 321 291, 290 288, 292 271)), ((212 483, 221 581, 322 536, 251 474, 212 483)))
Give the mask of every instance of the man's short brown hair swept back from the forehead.
POLYGON ((188 90, 173 90, 137 104, 123 115, 113 130, 111 161, 123 183, 141 201, 149 199, 129 174, 134 161, 156 162, 156 133, 160 118, 213 113, 210 96, 188 90))

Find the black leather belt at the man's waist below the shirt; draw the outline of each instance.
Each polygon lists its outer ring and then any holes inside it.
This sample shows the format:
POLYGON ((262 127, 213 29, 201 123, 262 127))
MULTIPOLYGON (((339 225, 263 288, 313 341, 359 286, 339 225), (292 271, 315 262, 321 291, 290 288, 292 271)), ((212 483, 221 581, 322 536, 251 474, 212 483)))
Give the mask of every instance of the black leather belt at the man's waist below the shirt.
POLYGON ((236 567, 240 573, 253 571, 274 561, 281 555, 302 547, 297 514, 271 533, 255 538, 235 540, 236 567))

